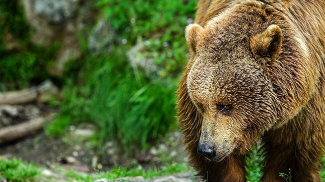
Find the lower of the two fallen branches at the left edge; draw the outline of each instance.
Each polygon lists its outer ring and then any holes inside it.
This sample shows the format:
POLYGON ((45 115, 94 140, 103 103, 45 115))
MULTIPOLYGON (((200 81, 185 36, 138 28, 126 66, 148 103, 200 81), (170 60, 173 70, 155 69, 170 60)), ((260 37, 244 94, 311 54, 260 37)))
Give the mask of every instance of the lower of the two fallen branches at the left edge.
POLYGON ((54 114, 39 117, 23 122, 21 124, 8 126, 0 129, 0 144, 10 142, 41 130, 44 125, 54 119, 54 114))

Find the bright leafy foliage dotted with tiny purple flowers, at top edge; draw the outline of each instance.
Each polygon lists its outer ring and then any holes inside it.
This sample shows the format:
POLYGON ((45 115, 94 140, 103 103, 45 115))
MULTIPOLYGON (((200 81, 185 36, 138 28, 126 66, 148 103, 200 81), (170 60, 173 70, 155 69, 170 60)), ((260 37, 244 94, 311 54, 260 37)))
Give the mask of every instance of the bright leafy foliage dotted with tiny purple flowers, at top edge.
POLYGON ((159 76, 178 75, 186 60, 184 27, 194 17, 197 0, 98 0, 119 41, 147 41, 146 55, 164 69, 159 76))

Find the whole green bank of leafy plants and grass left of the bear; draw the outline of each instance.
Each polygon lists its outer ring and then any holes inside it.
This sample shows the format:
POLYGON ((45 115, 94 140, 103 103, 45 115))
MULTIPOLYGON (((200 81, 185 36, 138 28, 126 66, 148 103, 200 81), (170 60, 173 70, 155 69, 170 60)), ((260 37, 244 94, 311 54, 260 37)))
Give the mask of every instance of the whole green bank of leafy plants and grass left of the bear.
MULTIPOLYGON (((86 53, 68 65, 60 104, 63 118, 69 124, 95 123, 98 144, 114 140, 128 154, 147 149, 173 128, 175 91, 187 53, 183 29, 196 2, 98 0, 120 43, 108 55, 86 53), (142 56, 156 62, 158 77, 128 66, 125 52, 141 39, 146 41, 142 56)), ((46 131, 55 136, 67 127, 58 120, 46 131)))

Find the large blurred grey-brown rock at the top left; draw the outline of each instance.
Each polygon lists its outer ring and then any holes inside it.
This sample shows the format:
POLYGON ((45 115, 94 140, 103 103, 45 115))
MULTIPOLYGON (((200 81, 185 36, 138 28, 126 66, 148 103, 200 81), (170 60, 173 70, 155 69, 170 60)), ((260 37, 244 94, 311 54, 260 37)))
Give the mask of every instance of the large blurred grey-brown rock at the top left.
POLYGON ((48 72, 62 76, 64 65, 81 56, 78 36, 96 17, 92 0, 21 0, 28 24, 33 29, 31 42, 48 47, 59 42, 55 62, 48 72))

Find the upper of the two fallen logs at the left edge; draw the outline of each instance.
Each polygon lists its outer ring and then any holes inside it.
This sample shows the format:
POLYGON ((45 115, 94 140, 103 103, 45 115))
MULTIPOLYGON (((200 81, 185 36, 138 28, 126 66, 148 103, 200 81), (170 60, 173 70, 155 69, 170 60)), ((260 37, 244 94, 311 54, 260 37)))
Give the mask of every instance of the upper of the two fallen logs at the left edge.
POLYGON ((45 81, 37 87, 0 93, 0 105, 25 104, 28 102, 43 102, 47 97, 56 97, 58 89, 50 81, 45 81))

